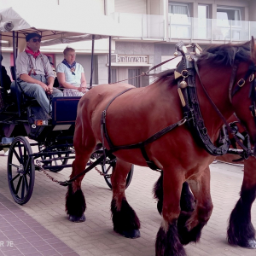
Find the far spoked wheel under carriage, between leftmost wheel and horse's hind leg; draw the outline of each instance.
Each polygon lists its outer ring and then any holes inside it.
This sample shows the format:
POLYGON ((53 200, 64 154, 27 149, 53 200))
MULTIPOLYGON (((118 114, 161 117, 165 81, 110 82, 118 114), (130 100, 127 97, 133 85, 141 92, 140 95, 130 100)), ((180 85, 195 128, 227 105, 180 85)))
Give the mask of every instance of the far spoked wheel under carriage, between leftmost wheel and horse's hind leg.
MULTIPOLYGON (((46 147, 44 144, 38 145, 39 152, 44 152, 45 148, 46 147)), ((59 166, 54 169, 49 168, 49 171, 50 172, 60 172, 61 170, 63 170, 64 167, 61 167, 61 166, 67 165, 67 161, 68 161, 67 158, 63 158, 63 157, 68 157, 69 154, 68 153, 59 153, 59 152, 65 151, 65 150, 67 150, 67 147, 60 148, 60 147, 56 146, 56 148, 53 148, 50 151, 50 152, 56 152, 56 154, 42 155, 41 159, 44 160, 44 162, 43 162, 44 169, 48 169, 50 166, 59 166), (60 159, 55 160, 56 158, 60 158, 60 159)))

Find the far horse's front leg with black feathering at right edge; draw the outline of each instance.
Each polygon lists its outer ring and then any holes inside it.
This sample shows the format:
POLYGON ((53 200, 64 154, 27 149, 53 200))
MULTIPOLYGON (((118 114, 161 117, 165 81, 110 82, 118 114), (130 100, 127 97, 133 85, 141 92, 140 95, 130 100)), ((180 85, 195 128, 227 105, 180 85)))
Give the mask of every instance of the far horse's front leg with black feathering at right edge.
POLYGON ((244 163, 244 176, 240 199, 230 214, 228 241, 232 245, 256 248, 255 230, 251 222, 251 209, 256 197, 256 160, 250 157, 244 163))

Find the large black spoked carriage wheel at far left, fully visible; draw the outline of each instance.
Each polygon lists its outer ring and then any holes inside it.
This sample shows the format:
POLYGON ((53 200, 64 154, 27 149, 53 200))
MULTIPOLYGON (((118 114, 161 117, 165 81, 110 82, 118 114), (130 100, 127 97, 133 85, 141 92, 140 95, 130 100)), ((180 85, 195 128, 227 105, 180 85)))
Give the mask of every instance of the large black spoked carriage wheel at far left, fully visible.
POLYGON ((9 148, 7 175, 11 195, 23 205, 30 200, 35 182, 32 148, 25 137, 15 137, 9 148))

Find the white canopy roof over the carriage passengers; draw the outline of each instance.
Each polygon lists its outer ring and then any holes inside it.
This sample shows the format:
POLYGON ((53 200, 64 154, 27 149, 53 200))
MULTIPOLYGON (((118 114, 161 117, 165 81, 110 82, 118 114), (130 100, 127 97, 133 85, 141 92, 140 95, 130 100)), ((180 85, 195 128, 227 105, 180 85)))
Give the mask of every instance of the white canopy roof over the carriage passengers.
MULTIPOLYGON (((21 1, 20 1, 21 2, 21 1)), ((84 9, 70 9, 62 6, 38 6, 30 9, 23 5, 19 8, 9 7, 0 9, 0 32, 2 38, 10 38, 10 32, 4 32, 4 26, 14 26, 11 31, 18 31, 21 38, 25 38, 28 32, 38 32, 43 36, 42 40, 53 38, 69 38, 82 36, 84 40, 97 35, 99 38, 111 36, 113 38, 133 37, 131 31, 127 32, 119 23, 106 15, 96 15, 86 12, 84 9)), ((82 38, 80 38, 81 40, 82 38)), ((48 44, 49 45, 49 44, 48 44)))

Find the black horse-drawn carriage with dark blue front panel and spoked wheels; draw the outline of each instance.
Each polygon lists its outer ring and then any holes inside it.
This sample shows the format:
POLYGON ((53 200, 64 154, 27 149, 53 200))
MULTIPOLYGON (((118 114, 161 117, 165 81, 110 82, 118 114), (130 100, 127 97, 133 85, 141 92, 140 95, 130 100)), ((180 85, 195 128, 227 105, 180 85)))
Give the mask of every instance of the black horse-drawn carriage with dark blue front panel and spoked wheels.
MULTIPOLYGON (((38 32, 43 36, 42 39, 45 39, 47 44, 49 44, 50 40, 60 38, 60 35, 62 37, 65 34, 67 38, 75 36, 72 39, 78 41, 92 39, 92 75, 94 40, 96 38, 107 38, 106 36, 89 35, 88 37, 88 35, 84 35, 85 32, 60 32, 26 26, 22 28, 17 23, 17 20, 12 20, 14 12, 13 9, 9 9, 6 13, 3 11, 5 15, 3 15, 2 21, 4 23, 3 28, 0 27, 0 42, 2 42, 2 39, 7 38, 13 43, 14 63, 17 56, 18 42, 24 39, 28 32, 38 32)), ((111 43, 111 37, 109 37, 109 43, 111 43)), ((109 53, 111 53, 110 45, 109 53)), ((32 196, 35 171, 60 172, 63 168, 72 166, 70 162, 68 163, 68 160, 73 160, 75 155, 73 133, 80 97, 53 98, 51 102, 53 108, 52 119, 43 119, 38 112, 38 108, 40 108, 38 102, 26 96, 21 90, 20 84, 15 77, 15 65, 10 67, 10 70, 15 85, 12 85, 10 90, 6 90, 4 84, 1 83, 0 138, 14 137, 14 140, 9 146, 0 144, 0 148, 3 148, 3 146, 9 147, 7 163, 9 189, 15 202, 22 205, 29 201, 32 196)), ((91 88, 92 79, 90 79, 89 89, 91 88)), ((102 156, 103 149, 102 145, 97 145, 96 152, 91 155, 88 166, 102 156)), ((111 189, 110 177, 115 166, 115 157, 111 155, 105 160, 98 161, 98 164, 102 170, 97 169, 98 172, 103 175, 108 187, 111 189)), ((133 166, 127 176, 126 188, 131 182, 132 174, 133 166)))

